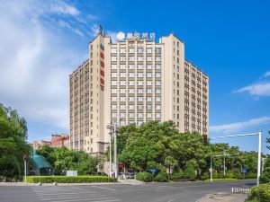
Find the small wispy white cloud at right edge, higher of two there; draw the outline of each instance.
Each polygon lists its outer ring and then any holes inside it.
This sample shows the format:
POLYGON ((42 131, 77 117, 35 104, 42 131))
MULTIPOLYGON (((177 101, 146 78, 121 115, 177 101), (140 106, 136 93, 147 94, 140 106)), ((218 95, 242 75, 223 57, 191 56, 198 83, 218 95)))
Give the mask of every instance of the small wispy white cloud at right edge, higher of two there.
POLYGON ((256 96, 270 96, 270 82, 251 84, 235 92, 248 92, 256 96))

